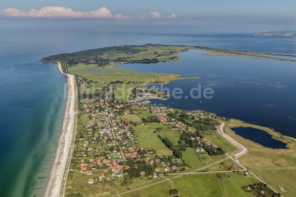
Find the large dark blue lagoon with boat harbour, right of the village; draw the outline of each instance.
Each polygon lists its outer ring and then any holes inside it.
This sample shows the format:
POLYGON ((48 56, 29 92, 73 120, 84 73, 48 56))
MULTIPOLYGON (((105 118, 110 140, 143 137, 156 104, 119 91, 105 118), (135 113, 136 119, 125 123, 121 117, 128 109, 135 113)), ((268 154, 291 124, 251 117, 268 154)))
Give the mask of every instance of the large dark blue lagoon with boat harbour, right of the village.
MULTIPOLYGON (((296 137, 296 63, 235 56, 210 56, 203 50, 180 54, 184 62, 123 64, 120 68, 142 72, 181 74, 200 79, 175 80, 161 87, 181 88, 183 96, 167 100, 151 99, 178 109, 201 109, 221 117, 272 127, 284 135, 296 137), (202 91, 212 88, 212 99, 192 99, 190 90, 201 84, 202 91), (185 98, 188 96, 188 99, 185 98)), ((197 92, 194 93, 196 95, 197 92)), ((171 95, 171 93, 170 93, 171 95)))

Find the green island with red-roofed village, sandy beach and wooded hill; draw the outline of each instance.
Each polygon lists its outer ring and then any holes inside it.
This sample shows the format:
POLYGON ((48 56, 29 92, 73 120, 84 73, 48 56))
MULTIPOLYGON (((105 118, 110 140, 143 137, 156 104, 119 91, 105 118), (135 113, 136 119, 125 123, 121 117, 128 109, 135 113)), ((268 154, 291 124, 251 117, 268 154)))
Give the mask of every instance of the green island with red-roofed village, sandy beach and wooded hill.
POLYGON ((295 62, 286 54, 161 44, 41 59, 57 62, 69 87, 45 196, 293 196, 295 138, 234 118, 149 101, 170 96, 158 84, 200 76, 118 67, 182 61, 179 53, 194 49, 207 51, 205 56, 295 62), (263 132, 279 147, 237 135, 244 131, 263 132))

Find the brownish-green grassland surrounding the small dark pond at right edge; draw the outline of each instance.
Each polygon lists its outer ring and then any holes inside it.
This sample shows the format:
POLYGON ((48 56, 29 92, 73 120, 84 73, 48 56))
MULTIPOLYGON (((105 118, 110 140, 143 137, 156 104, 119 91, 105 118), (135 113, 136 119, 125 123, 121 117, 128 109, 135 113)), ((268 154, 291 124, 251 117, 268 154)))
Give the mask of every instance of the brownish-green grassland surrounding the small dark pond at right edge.
POLYGON ((295 181, 293 181, 296 179, 296 144, 294 139, 281 136, 269 128, 257 126, 259 129, 263 128, 262 130, 267 133, 275 134, 273 138, 287 143, 288 147, 287 149, 266 148, 236 135, 230 129, 230 127, 238 126, 249 125, 237 120, 231 120, 224 127, 224 130, 248 149, 246 154, 239 157, 239 160, 243 162, 247 169, 254 172, 259 178, 262 178, 263 181, 282 193, 283 196, 294 196, 296 190, 295 181))

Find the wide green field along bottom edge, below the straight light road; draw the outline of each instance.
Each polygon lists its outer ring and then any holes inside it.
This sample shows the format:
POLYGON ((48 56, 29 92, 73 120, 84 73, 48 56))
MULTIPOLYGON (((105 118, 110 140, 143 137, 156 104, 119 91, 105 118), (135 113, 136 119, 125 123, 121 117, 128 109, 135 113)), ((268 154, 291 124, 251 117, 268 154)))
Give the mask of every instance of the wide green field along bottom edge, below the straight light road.
POLYGON ((250 197, 251 193, 245 192, 242 186, 258 183, 258 180, 252 176, 240 176, 233 172, 223 173, 223 177, 223 179, 218 179, 215 173, 184 175, 177 179, 171 179, 173 184, 160 183, 120 196, 169 196, 168 191, 175 188, 179 192, 177 196, 250 197))

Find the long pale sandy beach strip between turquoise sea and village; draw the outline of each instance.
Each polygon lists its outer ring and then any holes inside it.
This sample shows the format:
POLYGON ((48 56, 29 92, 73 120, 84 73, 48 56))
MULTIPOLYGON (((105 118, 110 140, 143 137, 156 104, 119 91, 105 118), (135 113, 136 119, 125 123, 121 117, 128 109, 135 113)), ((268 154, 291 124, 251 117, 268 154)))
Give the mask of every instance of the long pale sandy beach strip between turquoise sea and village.
MULTIPOLYGON (((66 104, 65 117, 62 127, 62 134, 59 138, 59 145, 55 155, 54 164, 49 177, 44 196, 60 196, 60 190, 63 182, 63 175, 67 163, 68 153, 73 138, 73 129, 75 121, 75 77, 65 74, 61 69, 61 64, 57 62, 61 74, 67 75, 68 100, 66 104)), ((71 155, 69 155, 71 156, 71 155)))

